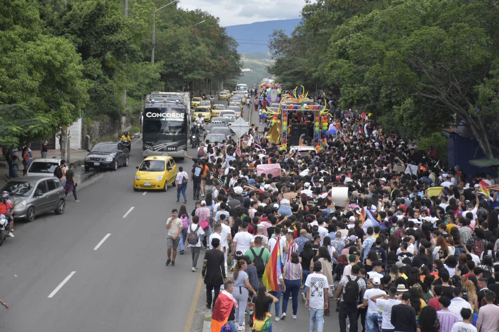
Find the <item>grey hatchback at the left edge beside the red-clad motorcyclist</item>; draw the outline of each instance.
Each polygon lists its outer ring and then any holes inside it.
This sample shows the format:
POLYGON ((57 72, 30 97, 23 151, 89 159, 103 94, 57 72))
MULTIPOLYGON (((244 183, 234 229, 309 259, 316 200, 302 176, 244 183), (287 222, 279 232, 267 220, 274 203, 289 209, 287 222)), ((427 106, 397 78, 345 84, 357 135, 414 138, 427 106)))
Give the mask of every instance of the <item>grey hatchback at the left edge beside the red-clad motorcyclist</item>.
POLYGON ((62 215, 66 197, 61 182, 56 177, 24 176, 5 183, 0 192, 7 191, 14 199, 14 219, 33 221, 37 215, 53 211, 62 215))

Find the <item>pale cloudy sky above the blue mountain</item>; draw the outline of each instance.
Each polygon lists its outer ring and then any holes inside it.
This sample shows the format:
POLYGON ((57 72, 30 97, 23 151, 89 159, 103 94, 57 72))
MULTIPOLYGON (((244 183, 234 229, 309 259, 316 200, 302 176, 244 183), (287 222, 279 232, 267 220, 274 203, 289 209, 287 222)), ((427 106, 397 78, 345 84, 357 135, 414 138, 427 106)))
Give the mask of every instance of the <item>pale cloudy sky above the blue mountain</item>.
POLYGON ((222 26, 247 24, 274 19, 296 18, 304 0, 180 0, 179 7, 187 10, 201 8, 220 17, 222 26))

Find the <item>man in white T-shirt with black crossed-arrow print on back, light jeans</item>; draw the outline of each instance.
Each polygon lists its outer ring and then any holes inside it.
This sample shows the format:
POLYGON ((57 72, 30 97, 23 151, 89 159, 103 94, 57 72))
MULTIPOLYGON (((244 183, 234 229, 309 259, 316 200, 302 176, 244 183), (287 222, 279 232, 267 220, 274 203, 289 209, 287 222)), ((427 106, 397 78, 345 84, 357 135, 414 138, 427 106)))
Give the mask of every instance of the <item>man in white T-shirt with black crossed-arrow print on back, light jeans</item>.
POLYGON ((305 280, 305 286, 307 287, 305 307, 310 308, 310 332, 324 331, 324 309, 328 308, 328 298, 326 296, 328 296, 329 283, 321 271, 322 263, 319 261, 314 262, 313 272, 305 280))

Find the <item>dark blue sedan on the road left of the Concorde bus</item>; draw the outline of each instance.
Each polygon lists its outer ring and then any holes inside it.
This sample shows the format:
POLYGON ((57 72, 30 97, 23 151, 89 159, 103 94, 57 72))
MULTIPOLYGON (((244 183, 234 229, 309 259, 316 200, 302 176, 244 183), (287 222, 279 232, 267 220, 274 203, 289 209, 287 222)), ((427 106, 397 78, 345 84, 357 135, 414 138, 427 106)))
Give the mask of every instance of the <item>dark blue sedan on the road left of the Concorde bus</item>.
POLYGON ((118 165, 128 166, 129 152, 121 142, 97 143, 92 150, 87 151, 85 171, 88 171, 90 168, 110 168, 116 171, 118 165))

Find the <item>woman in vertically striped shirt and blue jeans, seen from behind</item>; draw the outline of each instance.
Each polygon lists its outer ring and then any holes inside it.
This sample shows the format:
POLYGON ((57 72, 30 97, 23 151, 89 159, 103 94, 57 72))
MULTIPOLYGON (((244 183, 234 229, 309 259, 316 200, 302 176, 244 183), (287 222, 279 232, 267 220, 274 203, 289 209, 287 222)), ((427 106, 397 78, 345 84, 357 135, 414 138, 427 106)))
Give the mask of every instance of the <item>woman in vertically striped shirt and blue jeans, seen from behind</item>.
POLYGON ((296 319, 296 313, 298 311, 298 293, 300 291, 302 275, 303 270, 298 259, 298 253, 294 251, 291 253, 291 259, 286 264, 284 264, 284 267, 282 269, 282 277, 284 278, 286 291, 284 292, 284 296, 282 298, 281 320, 286 318, 287 301, 289 300, 289 294, 291 294, 293 300, 293 319, 296 319))

